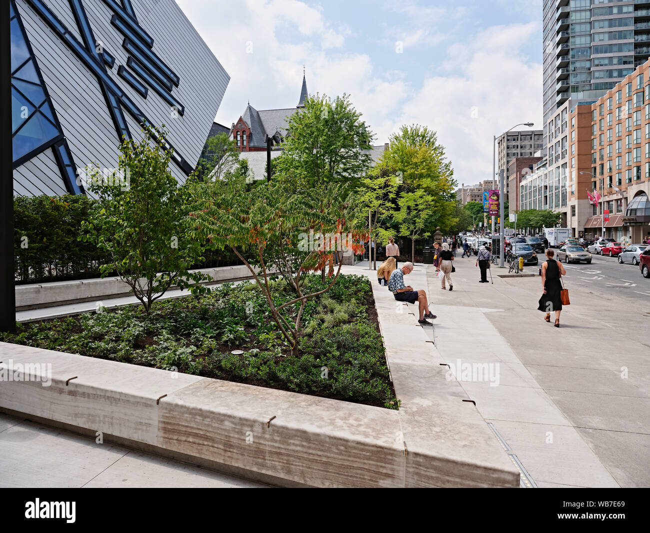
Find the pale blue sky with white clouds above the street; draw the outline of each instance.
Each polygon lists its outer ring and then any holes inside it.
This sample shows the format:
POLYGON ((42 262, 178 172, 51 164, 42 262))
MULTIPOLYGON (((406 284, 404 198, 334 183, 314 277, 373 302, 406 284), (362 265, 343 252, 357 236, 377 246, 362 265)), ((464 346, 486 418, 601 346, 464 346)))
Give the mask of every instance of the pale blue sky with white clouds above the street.
MULTIPOLYGON (((493 135, 541 115, 541 0, 176 0, 230 75, 216 122, 348 94, 387 143, 437 131, 458 184, 491 179, 493 135)), ((525 127, 516 129, 526 130, 525 127)))

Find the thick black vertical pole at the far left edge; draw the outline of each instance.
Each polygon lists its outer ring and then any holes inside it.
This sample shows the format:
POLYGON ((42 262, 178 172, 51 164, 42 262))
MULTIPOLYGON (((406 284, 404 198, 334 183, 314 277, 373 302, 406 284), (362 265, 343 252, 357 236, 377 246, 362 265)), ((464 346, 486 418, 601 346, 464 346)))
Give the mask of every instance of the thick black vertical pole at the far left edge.
POLYGON ((0 331, 16 330, 14 281, 14 156, 9 3, 0 7, 0 331), (2 29, 4 28, 4 29, 2 29))

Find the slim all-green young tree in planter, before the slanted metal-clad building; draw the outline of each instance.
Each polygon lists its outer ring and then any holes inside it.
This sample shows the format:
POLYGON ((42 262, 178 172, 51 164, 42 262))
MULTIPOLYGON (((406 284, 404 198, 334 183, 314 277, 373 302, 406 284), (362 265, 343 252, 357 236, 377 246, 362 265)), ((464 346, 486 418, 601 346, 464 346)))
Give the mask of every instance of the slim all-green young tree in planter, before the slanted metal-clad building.
POLYGON ((79 239, 109 254, 110 261, 100 267, 102 277, 117 271, 149 314, 170 287, 205 292, 198 283, 209 277, 188 272, 201 260, 203 247, 189 234, 190 198, 169 170, 171 152, 143 133, 139 143, 120 146, 119 171, 101 176, 93 167, 86 169, 98 201, 79 239))

